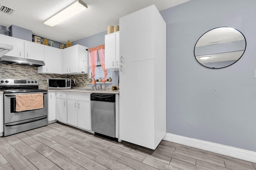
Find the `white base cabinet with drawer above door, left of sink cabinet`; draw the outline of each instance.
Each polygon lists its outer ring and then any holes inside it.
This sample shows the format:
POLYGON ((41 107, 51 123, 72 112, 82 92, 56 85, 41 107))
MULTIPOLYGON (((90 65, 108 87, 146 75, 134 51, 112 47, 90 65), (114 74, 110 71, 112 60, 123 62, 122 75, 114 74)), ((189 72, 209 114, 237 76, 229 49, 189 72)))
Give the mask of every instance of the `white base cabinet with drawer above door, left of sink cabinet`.
POLYGON ((67 99, 66 93, 56 93, 56 119, 67 123, 67 99))

